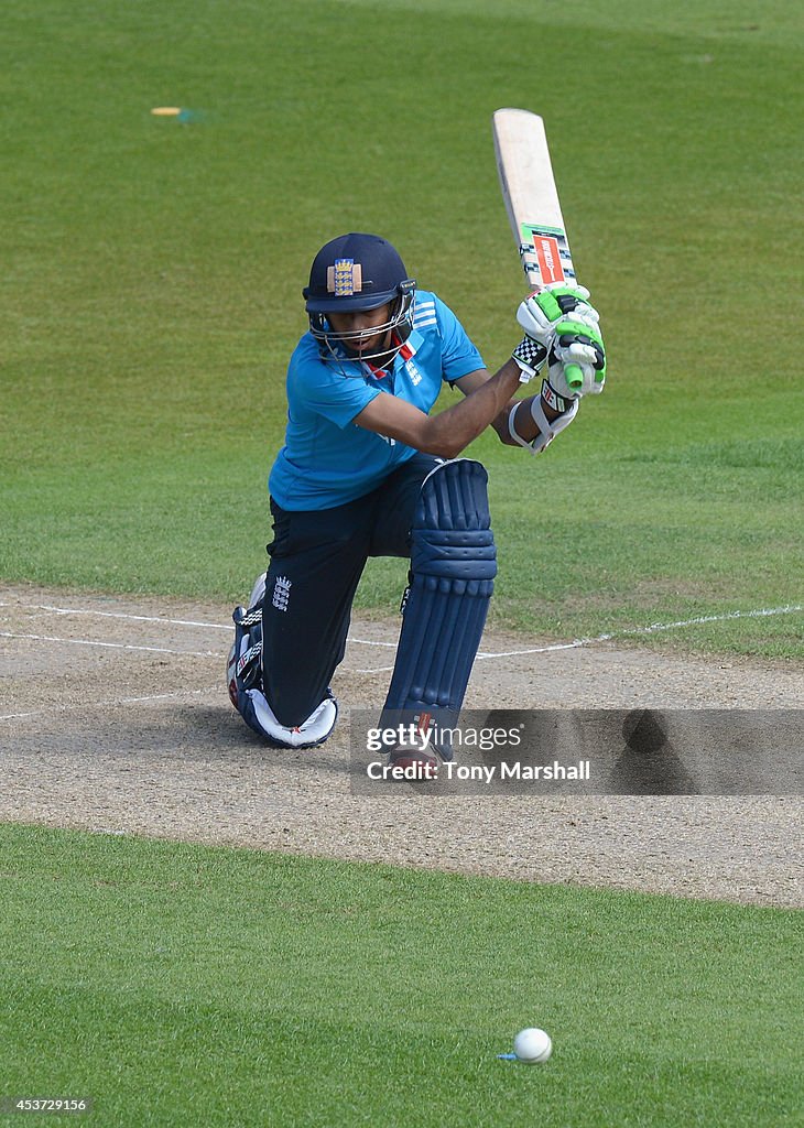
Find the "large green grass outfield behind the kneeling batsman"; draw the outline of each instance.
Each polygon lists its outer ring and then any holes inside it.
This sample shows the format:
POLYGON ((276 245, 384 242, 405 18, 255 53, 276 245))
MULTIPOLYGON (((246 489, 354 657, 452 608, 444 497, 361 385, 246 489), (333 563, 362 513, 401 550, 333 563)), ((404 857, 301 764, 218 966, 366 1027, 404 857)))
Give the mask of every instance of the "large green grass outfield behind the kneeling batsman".
MULTIPOLYGON (((507 104, 546 118, 611 359, 544 458, 471 449, 494 622, 566 638, 799 606, 803 26, 779 0, 7 3, 0 576, 244 597, 300 288, 338 231, 397 243, 496 367, 522 292, 507 104)), ((404 576, 372 564, 360 603, 391 609, 404 576)), ((652 641, 801 656, 801 626, 652 641)))

